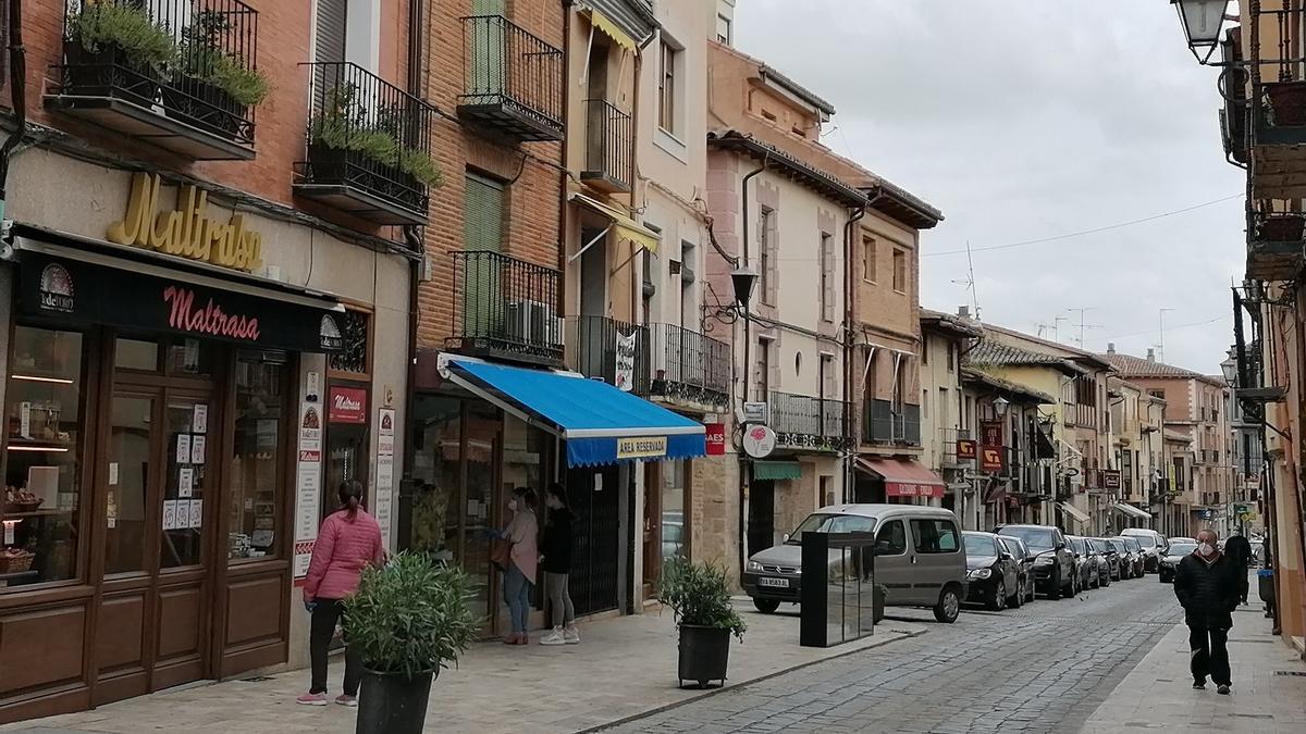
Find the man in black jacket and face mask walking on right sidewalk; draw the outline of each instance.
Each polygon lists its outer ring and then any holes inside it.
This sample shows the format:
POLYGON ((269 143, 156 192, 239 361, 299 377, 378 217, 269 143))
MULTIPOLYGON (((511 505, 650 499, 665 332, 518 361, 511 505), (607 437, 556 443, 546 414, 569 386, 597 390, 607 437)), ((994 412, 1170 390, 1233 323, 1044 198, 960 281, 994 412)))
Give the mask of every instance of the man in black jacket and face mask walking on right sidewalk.
POLYGON ((1174 572, 1174 596, 1188 624, 1192 687, 1204 690, 1209 675, 1218 692, 1229 695, 1233 680, 1226 644, 1233 610, 1238 607, 1238 573, 1246 576, 1247 568, 1221 554, 1216 541, 1215 530, 1198 533, 1196 550, 1174 572))

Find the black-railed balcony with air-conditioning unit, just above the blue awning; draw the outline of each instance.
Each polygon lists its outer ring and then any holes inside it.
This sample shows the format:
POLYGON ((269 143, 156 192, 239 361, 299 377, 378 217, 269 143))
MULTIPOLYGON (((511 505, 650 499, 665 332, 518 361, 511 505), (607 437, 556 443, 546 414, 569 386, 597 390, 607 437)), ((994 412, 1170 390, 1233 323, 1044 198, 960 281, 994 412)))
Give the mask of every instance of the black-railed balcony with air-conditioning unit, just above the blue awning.
POLYGON ((499 255, 453 253, 453 336, 445 349, 471 357, 563 366, 558 270, 499 255))

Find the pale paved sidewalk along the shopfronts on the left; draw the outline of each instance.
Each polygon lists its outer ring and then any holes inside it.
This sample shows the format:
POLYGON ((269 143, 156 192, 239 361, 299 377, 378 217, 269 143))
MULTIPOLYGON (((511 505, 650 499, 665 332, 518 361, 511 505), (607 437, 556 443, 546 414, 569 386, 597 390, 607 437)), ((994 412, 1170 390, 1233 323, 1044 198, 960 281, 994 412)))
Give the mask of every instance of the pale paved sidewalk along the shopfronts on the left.
MULTIPOLYGON (((727 687, 929 630, 925 624, 885 620, 875 635, 857 643, 801 648, 797 613, 763 615, 752 611, 747 598, 735 603, 746 609, 750 630, 743 644, 731 641, 727 687)), ((577 731, 712 694, 675 687, 677 633, 670 611, 582 623, 580 632, 580 645, 478 644, 458 669, 441 673, 431 687, 427 730, 577 731)), ((333 661, 332 696, 340 692, 342 665, 333 661)), ((197 684, 91 712, 0 726, 0 731, 353 733, 353 709, 294 703, 307 682, 307 671, 293 671, 263 682, 197 684)))

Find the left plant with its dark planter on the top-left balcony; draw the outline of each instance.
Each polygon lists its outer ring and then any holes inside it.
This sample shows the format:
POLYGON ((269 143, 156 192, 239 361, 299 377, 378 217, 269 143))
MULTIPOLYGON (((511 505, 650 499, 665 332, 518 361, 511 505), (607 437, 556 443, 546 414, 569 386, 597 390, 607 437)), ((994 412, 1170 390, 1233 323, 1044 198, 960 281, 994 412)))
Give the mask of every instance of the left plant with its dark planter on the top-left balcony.
POLYGON ((95 3, 68 18, 65 73, 78 94, 114 97, 115 90, 142 103, 158 97, 158 80, 176 59, 176 42, 144 7, 95 3))

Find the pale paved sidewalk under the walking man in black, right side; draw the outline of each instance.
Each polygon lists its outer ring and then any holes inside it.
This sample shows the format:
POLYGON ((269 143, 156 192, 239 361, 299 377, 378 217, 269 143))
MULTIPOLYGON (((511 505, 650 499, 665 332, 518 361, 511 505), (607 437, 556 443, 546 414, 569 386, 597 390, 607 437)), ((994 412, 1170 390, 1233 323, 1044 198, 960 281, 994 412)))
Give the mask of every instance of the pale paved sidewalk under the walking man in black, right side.
POLYGON ((1233 622, 1232 695, 1217 695, 1213 683, 1205 691, 1192 690, 1188 628, 1177 624, 1115 687, 1081 733, 1306 731, 1306 663, 1269 633, 1271 620, 1259 603, 1238 607, 1233 622))

